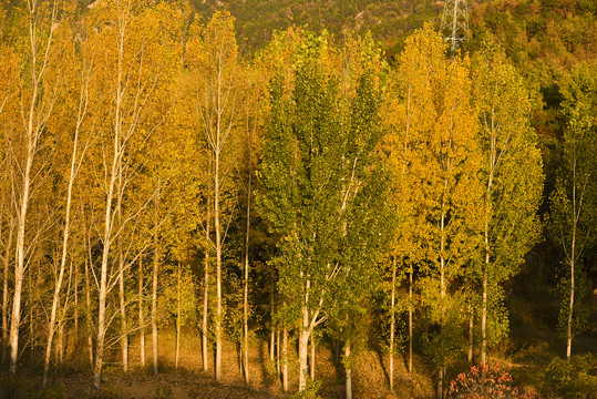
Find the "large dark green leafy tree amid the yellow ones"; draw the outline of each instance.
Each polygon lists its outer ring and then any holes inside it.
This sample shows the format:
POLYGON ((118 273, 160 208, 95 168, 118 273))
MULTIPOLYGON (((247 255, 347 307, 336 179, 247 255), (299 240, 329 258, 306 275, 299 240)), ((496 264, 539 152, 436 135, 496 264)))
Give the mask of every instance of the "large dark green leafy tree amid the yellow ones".
POLYGON ((381 129, 377 76, 367 73, 377 68, 375 52, 362 45, 362 58, 353 60, 343 81, 337 66, 341 58, 328 37, 305 32, 296 41, 294 33, 280 34, 271 45, 282 57, 270 81, 259 206, 281 236, 278 289, 292 315, 288 319, 300 320, 299 391, 303 391, 313 329, 349 301, 348 294, 356 295, 350 287, 368 283, 371 264, 364 259, 371 260, 371 254, 357 238, 375 235, 370 222, 381 216, 364 205, 371 201, 369 182, 380 173, 372 154, 381 129), (342 83, 353 86, 342 91, 342 83), (367 216, 363 225, 359 216, 367 216), (349 262, 349 254, 359 258, 349 262))

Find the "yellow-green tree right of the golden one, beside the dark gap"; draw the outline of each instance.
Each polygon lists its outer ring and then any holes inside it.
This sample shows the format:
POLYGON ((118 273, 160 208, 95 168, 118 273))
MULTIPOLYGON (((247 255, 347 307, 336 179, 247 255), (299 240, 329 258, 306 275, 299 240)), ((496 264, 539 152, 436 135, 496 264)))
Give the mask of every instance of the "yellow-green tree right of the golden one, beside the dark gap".
MULTIPOLYGON (((472 63, 473 102, 478 112, 484 190, 481 364, 487 354, 487 315, 501 304, 502 282, 513 276, 537 242, 543 172, 531 127, 531 101, 503 50, 487 39, 472 63), (525 171, 525 173, 521 173, 525 171)), ((495 309, 500 311, 498 309, 495 309)), ((494 311, 495 314, 495 311, 494 311)), ((504 334, 498 320, 494 336, 504 334)))

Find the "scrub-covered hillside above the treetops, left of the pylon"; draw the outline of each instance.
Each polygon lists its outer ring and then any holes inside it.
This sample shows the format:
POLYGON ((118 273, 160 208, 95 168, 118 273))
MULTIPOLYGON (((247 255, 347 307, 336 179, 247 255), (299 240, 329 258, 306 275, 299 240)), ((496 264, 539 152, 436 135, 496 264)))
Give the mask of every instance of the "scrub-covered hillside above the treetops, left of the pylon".
POLYGON ((393 54, 410 32, 434 21, 443 7, 434 0, 192 0, 192 4, 204 21, 215 10, 228 9, 248 53, 265 47, 274 31, 296 24, 315 31, 327 29, 337 37, 371 31, 393 54))

